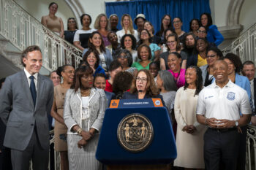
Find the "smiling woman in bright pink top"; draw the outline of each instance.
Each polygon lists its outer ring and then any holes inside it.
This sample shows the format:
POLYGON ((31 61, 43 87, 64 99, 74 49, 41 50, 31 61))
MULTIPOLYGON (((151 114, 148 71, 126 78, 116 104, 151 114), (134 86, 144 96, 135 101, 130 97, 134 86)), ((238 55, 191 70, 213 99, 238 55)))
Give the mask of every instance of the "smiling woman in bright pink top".
POLYGON ((185 72, 186 69, 181 69, 181 55, 177 52, 170 53, 167 60, 169 72, 173 74, 176 80, 177 88, 185 85, 185 72))

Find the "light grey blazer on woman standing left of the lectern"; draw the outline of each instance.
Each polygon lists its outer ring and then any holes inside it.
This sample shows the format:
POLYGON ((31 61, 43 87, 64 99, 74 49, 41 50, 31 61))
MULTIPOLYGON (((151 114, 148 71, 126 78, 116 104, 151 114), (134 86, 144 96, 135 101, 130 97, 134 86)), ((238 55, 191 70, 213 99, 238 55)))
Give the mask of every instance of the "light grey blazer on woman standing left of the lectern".
POLYGON ((67 90, 64 103, 64 122, 67 125, 67 134, 77 134, 71 131, 74 125, 79 125, 83 129, 95 128, 100 131, 107 108, 107 99, 104 90, 91 88, 89 96, 89 127, 82 127, 82 97, 80 89, 75 92, 74 89, 67 90))

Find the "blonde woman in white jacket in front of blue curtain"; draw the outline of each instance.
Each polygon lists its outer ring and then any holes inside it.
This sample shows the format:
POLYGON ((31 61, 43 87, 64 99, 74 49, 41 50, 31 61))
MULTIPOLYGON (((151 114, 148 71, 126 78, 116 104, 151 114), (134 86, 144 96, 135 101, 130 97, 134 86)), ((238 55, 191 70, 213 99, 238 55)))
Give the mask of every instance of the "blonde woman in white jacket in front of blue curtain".
POLYGON ((135 36, 135 39, 138 42, 138 31, 133 28, 132 18, 131 16, 129 16, 129 14, 124 14, 121 17, 121 26, 123 29, 116 32, 119 43, 121 41, 121 37, 124 36, 124 34, 132 34, 133 36, 135 36))

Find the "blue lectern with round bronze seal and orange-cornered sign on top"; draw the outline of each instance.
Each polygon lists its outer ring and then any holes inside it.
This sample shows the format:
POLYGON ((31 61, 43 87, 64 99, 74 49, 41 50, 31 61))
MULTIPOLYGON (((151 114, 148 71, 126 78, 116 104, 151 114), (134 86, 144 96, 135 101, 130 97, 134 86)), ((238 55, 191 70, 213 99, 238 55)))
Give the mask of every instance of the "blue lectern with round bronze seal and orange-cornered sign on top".
MULTIPOLYGON (((148 139, 149 139, 148 137, 148 139)), ((132 147, 133 148, 133 147, 132 147)), ((110 108, 106 110, 99 136, 96 158, 106 165, 167 165, 177 156, 176 142, 167 109, 162 107, 159 98, 139 100, 112 100, 110 108), (143 118, 129 115, 141 115, 151 123, 151 128, 142 128, 146 124, 143 118), (125 120, 128 116, 129 119, 125 120), (124 125, 121 125, 124 121, 124 125), (138 127, 140 125, 140 127, 138 127), (127 128, 128 127, 128 128, 127 128), (147 131, 146 131, 146 130, 147 131), (150 130, 151 131, 148 131, 150 130), (120 134, 124 134, 123 141, 128 144, 142 144, 143 134, 151 137, 148 146, 143 150, 129 150, 120 142, 120 134), (150 134, 151 133, 151 134, 150 134), (133 140, 133 141, 132 141, 133 140), (137 143, 136 143, 137 142, 137 143)))

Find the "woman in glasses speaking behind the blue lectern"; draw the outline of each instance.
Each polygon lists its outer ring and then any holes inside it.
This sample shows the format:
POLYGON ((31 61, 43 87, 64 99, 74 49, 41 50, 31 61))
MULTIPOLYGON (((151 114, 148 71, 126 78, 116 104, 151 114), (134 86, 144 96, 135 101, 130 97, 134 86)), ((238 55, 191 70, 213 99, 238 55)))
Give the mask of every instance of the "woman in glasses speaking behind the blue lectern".
MULTIPOLYGON (((129 92, 125 92, 123 99, 143 99, 143 98, 161 98, 156 82, 153 76, 146 69, 141 69, 132 81, 132 87, 129 92)), ((165 105, 165 104, 164 104, 165 105)))

